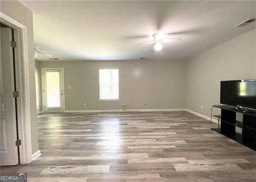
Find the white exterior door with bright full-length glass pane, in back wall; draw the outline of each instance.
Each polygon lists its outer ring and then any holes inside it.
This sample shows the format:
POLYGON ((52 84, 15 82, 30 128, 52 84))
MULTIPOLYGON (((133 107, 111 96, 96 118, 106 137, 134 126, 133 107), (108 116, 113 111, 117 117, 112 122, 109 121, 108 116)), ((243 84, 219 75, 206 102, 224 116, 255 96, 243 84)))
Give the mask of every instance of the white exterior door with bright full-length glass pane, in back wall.
POLYGON ((64 112, 63 68, 42 68, 44 112, 64 112))

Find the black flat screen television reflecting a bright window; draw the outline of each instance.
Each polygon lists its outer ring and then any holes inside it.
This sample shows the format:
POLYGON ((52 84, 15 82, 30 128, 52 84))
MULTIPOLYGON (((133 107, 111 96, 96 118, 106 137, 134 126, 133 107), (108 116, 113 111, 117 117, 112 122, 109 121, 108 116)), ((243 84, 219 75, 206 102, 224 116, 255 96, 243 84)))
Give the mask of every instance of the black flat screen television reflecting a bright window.
POLYGON ((256 79, 221 81, 220 103, 256 109, 256 79))

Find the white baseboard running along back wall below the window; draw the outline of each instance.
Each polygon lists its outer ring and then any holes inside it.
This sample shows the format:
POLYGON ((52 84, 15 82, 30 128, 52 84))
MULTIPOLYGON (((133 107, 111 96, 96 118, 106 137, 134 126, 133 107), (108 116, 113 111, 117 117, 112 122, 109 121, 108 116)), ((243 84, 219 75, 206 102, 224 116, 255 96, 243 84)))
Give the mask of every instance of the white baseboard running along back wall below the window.
POLYGON ((138 110, 66 110, 65 112, 155 112, 155 111, 185 111, 186 109, 138 109, 138 110))

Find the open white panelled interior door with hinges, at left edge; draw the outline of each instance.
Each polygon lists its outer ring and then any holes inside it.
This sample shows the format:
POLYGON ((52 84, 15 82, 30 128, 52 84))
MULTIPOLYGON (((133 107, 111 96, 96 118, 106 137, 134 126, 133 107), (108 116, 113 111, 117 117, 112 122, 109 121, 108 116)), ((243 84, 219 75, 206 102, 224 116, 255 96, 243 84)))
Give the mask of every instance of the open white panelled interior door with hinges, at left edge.
POLYGON ((16 130, 16 109, 15 99, 12 96, 14 91, 14 70, 13 55, 10 41, 12 41, 12 30, 1 27, 1 74, 0 74, 0 165, 18 164, 18 147, 16 130))

